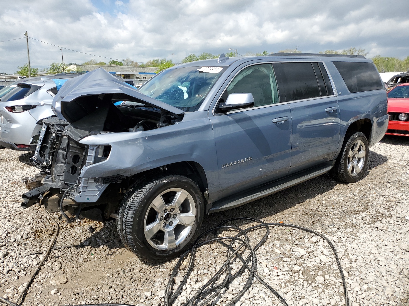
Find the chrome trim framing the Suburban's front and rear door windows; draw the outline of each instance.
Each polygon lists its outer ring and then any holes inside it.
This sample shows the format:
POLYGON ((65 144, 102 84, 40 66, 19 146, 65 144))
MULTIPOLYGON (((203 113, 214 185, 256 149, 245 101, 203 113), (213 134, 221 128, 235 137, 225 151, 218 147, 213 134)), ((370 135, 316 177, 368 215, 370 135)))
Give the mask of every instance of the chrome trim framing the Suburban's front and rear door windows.
MULTIPOLYGON (((274 71, 274 67, 273 67, 273 71, 274 71)), ((274 72, 274 78, 276 78, 275 72, 274 72)), ((276 82, 277 82, 277 78, 276 78, 276 82)), ((278 86, 277 86, 278 89, 278 86)), ((279 90, 279 89, 278 89, 279 90)), ((233 76, 233 78, 231 78, 231 80, 229 81, 229 83, 227 83, 227 85, 224 87, 222 93, 218 96, 218 98, 216 99, 216 104, 214 104, 213 106, 213 110, 212 110, 212 115, 213 116, 220 116, 220 115, 228 115, 231 113, 239 113, 242 111, 249 111, 250 109, 261 109, 261 108, 265 108, 265 107, 270 107, 270 106, 274 106, 274 105, 281 105, 284 103, 290 104, 290 103, 294 103, 294 102, 303 102, 303 101, 310 101, 310 100, 316 100, 316 99, 323 99, 323 98, 333 98, 333 97, 337 97, 338 93, 337 90, 335 88, 335 83, 334 80, 331 76, 331 74, 328 71, 328 67, 326 65, 326 63, 322 60, 305 60, 305 61, 268 61, 268 62, 259 62, 259 63, 252 63, 252 64, 248 64, 247 66, 243 67, 242 69, 240 69, 239 71, 237 71, 237 73, 233 76), (262 105, 262 106, 256 106, 256 107, 247 107, 245 109, 237 109, 235 111, 228 111, 227 113, 220 113, 220 114, 216 114, 216 107, 217 107, 217 101, 220 100, 221 96, 223 95, 224 91, 226 90, 226 88, 230 85, 230 83, 234 80, 234 78, 236 77, 236 75, 238 75, 238 73, 240 73, 240 71, 242 71, 243 69, 250 67, 250 66, 255 66, 255 65, 262 65, 262 64, 274 64, 274 63, 322 63, 324 65, 325 71, 328 74, 328 78, 330 79, 330 83, 333 89, 333 95, 326 95, 324 97, 316 97, 316 98, 308 98, 308 99, 301 99, 301 100, 294 100, 294 101, 289 101, 289 102, 280 102, 280 103, 273 103, 273 104, 267 104, 267 105, 262 105)))

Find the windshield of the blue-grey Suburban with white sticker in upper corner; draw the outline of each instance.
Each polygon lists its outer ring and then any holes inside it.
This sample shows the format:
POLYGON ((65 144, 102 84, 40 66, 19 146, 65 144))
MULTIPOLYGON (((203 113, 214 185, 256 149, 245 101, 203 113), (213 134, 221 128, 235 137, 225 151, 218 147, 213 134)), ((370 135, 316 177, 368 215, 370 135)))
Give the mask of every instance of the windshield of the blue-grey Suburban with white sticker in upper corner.
POLYGON ((169 69, 146 82, 139 91, 183 111, 197 111, 224 71, 223 67, 203 66, 169 69))

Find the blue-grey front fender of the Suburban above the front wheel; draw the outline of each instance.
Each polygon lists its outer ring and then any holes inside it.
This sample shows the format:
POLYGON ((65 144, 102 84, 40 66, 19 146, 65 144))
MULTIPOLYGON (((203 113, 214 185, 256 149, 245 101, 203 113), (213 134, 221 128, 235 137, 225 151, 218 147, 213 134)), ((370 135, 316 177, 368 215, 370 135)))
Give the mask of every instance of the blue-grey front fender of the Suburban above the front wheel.
MULTIPOLYGON (((205 112, 201 112, 205 113, 205 112)), ((90 135, 90 146, 111 146, 107 160, 85 166, 80 177, 131 176, 176 162, 197 162, 205 171, 209 193, 218 188, 216 144, 209 118, 196 118, 150 131, 90 135)), ((184 118, 185 120, 185 118, 184 118)))

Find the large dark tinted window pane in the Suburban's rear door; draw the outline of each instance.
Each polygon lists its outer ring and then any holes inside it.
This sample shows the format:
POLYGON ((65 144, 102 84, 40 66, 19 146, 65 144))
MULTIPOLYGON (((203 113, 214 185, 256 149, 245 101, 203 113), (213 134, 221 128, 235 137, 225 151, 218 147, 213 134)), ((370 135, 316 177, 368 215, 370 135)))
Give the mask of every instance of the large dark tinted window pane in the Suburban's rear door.
POLYGON ((276 63, 273 66, 274 70, 279 71, 277 79, 286 101, 321 96, 312 63, 276 63))

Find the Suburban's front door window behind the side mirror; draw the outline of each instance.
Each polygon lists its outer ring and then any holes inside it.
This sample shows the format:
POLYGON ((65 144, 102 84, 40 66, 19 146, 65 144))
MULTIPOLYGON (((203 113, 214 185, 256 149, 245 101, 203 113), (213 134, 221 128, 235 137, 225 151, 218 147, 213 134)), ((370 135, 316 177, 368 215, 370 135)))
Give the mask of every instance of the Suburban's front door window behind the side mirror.
POLYGON ((280 102, 271 64, 254 65, 240 71, 227 86, 222 99, 226 101, 230 93, 251 93, 254 106, 280 102))

